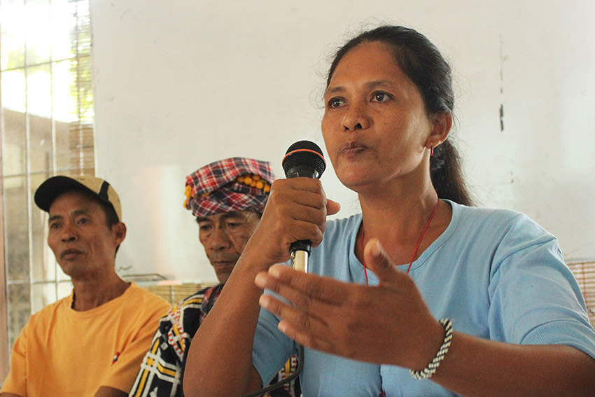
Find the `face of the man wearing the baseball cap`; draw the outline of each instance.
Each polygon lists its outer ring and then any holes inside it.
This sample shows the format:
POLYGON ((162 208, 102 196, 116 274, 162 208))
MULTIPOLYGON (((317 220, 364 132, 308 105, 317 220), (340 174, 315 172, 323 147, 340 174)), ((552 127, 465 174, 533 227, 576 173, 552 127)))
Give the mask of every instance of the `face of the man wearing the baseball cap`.
POLYGON ((50 206, 48 245, 73 280, 94 279, 113 271, 123 223, 108 227, 102 206, 78 191, 59 195, 50 206))

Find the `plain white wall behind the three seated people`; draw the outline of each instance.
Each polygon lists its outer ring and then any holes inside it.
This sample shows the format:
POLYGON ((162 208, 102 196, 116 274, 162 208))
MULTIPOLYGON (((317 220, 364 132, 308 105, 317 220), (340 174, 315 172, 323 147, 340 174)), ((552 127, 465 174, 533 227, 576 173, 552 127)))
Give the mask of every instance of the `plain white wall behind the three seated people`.
MULTIPOLYGON (((214 281, 182 207, 185 176, 235 155, 281 176, 293 141, 322 146, 327 61, 379 21, 418 29, 451 62, 459 144, 482 204, 525 212, 568 259, 595 258, 595 2, 91 3, 97 174, 123 201, 124 273, 214 281)), ((339 216, 357 211, 332 169, 322 181, 339 216)))

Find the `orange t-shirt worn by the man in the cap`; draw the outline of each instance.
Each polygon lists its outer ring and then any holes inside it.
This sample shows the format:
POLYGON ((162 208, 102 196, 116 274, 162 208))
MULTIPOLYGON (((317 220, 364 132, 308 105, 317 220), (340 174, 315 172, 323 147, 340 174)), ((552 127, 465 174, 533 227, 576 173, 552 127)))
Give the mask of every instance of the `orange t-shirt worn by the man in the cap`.
POLYGON ((169 303, 134 283, 85 312, 71 309, 72 298, 31 316, 13 346, 1 392, 92 397, 99 386, 130 392, 169 303))

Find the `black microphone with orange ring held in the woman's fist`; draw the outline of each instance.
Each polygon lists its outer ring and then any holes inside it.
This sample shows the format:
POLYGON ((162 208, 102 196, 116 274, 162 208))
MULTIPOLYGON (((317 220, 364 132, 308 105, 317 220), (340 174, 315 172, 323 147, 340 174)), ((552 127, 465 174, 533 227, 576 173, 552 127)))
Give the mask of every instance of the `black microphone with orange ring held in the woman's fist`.
MULTIPOLYGON (((289 146, 281 165, 288 179, 299 176, 320 179, 326 169, 321 148, 311 141, 297 141, 289 146)), ((289 252, 291 253, 291 265, 294 269, 308 272, 311 245, 309 240, 298 240, 291 244, 289 252)))

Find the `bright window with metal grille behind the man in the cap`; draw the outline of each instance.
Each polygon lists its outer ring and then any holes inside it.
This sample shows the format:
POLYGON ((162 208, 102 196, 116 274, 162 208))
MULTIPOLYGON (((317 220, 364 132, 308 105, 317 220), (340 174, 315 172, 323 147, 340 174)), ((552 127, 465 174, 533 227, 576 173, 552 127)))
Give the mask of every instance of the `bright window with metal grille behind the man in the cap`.
POLYGON ((71 291, 36 188, 94 174, 89 0, 0 1, 0 379, 29 316, 71 291))

